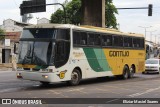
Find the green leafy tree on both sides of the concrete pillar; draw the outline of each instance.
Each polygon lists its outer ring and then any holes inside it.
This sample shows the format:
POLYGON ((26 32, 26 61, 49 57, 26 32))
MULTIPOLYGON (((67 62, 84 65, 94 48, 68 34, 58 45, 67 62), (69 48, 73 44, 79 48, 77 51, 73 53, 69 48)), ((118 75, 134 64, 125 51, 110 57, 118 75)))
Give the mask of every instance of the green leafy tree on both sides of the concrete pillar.
MULTIPOLYGON (((81 0, 72 0, 65 2, 67 23, 80 24, 81 23, 81 0)), ((115 14, 118 14, 117 9, 113 5, 112 0, 106 0, 105 8, 106 27, 117 28, 117 20, 115 14)), ((64 11, 58 9, 51 15, 51 23, 64 23, 64 11)))

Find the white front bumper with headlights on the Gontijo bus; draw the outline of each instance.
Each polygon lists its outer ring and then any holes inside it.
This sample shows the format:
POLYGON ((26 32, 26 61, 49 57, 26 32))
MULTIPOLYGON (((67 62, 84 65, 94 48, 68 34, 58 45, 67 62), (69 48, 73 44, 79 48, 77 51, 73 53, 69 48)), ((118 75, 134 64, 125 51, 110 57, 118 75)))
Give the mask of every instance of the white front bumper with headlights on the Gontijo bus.
POLYGON ((52 72, 17 71, 17 78, 31 81, 58 82, 58 76, 52 72))

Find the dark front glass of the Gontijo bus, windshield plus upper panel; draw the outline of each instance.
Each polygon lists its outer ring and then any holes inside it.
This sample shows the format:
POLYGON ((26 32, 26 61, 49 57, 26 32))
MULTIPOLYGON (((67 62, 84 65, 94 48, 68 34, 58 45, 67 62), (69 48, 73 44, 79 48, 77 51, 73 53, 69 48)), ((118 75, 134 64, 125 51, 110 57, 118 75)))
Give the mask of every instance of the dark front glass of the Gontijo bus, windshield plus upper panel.
POLYGON ((57 39, 68 40, 66 29, 24 29, 20 39, 19 64, 54 65, 57 39))

